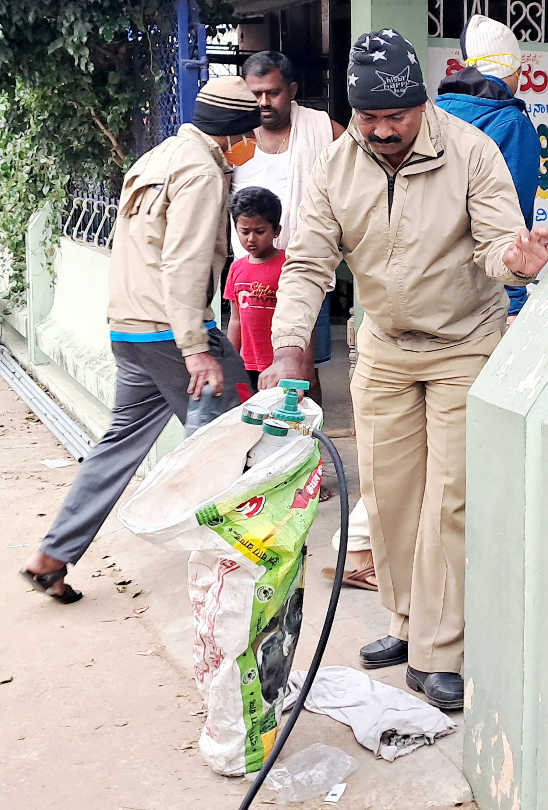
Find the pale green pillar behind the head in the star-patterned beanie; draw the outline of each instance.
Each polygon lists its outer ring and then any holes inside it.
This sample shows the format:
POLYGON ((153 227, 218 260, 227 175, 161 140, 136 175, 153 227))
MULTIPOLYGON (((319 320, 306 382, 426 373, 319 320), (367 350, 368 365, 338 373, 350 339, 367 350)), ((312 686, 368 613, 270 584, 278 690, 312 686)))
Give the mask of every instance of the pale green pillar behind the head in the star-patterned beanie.
MULTIPOLYGON (((360 34, 395 28, 413 43, 418 61, 428 81, 428 0, 350 0, 352 42, 360 34)), ((363 318, 363 309, 354 294, 355 329, 363 318)))

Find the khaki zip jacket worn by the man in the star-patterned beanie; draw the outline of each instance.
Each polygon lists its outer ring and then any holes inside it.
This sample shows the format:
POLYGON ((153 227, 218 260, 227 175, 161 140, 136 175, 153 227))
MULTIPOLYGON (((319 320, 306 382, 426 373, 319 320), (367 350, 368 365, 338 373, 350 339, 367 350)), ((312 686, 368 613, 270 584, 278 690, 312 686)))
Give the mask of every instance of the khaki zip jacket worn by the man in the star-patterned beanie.
POLYGON ((274 348, 306 347, 342 255, 364 322, 404 349, 453 346, 504 328, 503 254, 525 228, 494 141, 429 101, 394 172, 353 119, 321 153, 278 287, 274 348))

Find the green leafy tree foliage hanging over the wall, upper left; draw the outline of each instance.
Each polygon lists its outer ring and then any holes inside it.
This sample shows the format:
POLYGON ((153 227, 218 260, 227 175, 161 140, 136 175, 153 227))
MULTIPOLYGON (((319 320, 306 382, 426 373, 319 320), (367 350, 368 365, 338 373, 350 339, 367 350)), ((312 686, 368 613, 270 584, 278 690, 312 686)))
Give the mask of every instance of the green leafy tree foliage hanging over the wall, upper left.
MULTIPOLYGON (((206 23, 232 22, 224 0, 200 10, 206 23)), ((161 43, 175 35, 176 0, 0 0, 0 236, 14 259, 12 301, 32 212, 46 201, 58 209, 68 178, 117 193, 165 87, 161 43)))

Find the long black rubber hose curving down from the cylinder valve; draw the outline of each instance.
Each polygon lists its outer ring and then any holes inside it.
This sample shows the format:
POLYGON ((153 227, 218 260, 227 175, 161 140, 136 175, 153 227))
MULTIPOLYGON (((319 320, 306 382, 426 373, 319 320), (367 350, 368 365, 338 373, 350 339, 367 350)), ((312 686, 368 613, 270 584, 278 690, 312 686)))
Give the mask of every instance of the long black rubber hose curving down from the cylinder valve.
POLYGON ((344 566, 346 561, 346 547, 348 545, 348 488, 346 486, 346 476, 344 474, 344 467, 342 467, 342 460, 340 455, 338 454, 338 450, 333 445, 333 441, 325 436, 325 433, 321 433, 321 430, 313 430, 312 437, 321 441, 321 444, 324 445, 327 450, 329 450, 329 454, 331 458, 333 458, 333 464, 335 465, 335 471, 337 473, 338 478, 338 485, 339 485, 339 492, 341 494, 341 540, 338 547, 338 558, 337 558, 337 568, 335 569, 335 578, 333 580, 333 590, 331 590, 331 598, 329 599, 329 607, 327 608, 327 613, 325 614, 325 622, 324 626, 321 629, 320 641, 318 642, 318 646, 316 647, 316 652, 314 653, 314 658, 312 659, 312 663, 310 664, 310 668, 308 670, 308 675, 306 676, 303 684, 303 688, 300 690, 299 697, 297 697, 297 701, 289 718, 287 718, 287 723, 280 731, 278 738, 274 744, 274 748, 270 752, 270 756, 266 760, 265 764, 262 766, 261 770, 257 774, 253 785, 249 788, 249 791, 245 795, 244 801, 240 804, 240 810, 249 810, 253 799, 261 789, 262 783, 265 781, 266 777, 269 774, 270 769, 274 765, 274 762, 278 759, 280 752, 282 751, 283 746, 287 743, 287 738, 293 731, 293 727, 297 722, 297 718, 299 718, 299 714, 304 706, 304 701, 308 697, 308 693, 312 688, 312 682, 316 677, 316 673, 320 668, 321 659, 325 653, 325 647, 327 646, 327 642, 329 639, 329 633, 331 633, 331 628, 333 627, 333 620, 335 618, 335 611, 337 610, 337 603, 338 597, 341 593, 342 588, 342 578, 344 576, 344 566))

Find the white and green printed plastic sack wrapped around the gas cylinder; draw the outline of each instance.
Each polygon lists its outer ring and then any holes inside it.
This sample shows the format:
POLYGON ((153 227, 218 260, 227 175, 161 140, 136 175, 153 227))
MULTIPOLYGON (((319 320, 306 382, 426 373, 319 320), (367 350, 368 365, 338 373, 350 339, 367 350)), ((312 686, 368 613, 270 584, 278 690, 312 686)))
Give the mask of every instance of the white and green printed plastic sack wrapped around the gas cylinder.
MULTIPOLYGON (((246 404, 272 410, 282 399, 276 388, 246 404)), ((316 403, 305 398, 299 409, 305 424, 321 427, 316 403)), ((243 472, 261 428, 240 416, 237 407, 199 428, 118 512, 125 527, 151 543, 193 550, 193 663, 207 708, 200 748, 215 771, 231 776, 260 770, 274 745, 299 638, 304 544, 322 471, 317 442, 295 431, 243 472)))

